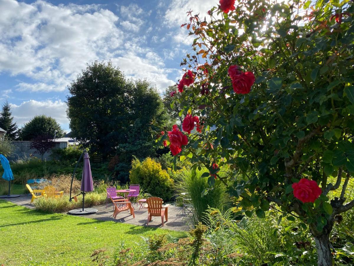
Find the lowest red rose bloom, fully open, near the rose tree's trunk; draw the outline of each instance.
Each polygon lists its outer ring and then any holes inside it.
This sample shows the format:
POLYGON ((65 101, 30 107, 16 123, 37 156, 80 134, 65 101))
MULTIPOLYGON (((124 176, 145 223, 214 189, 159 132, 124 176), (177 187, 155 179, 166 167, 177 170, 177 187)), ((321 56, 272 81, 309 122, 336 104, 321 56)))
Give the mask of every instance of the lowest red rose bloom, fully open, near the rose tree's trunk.
POLYGON ((293 183, 292 188, 294 189, 295 198, 301 200, 303 203, 313 203, 322 193, 316 181, 306 178, 300 179, 298 183, 293 183))

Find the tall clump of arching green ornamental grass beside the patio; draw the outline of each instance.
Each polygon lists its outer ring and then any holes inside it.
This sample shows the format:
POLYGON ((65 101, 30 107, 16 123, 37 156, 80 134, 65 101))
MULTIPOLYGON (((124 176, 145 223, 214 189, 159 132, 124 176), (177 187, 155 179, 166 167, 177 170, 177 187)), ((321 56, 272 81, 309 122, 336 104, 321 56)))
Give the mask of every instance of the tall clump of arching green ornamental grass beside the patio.
POLYGON ((206 210, 210 208, 217 208, 220 210, 229 207, 229 195, 226 191, 226 186, 216 179, 213 189, 209 190, 206 195, 202 192, 210 188, 206 177, 201 177, 206 168, 196 170, 196 176, 192 177, 192 171, 183 168, 177 172, 175 188, 178 193, 188 193, 188 198, 194 207, 193 223, 196 225, 198 222, 205 222, 204 215, 206 210))

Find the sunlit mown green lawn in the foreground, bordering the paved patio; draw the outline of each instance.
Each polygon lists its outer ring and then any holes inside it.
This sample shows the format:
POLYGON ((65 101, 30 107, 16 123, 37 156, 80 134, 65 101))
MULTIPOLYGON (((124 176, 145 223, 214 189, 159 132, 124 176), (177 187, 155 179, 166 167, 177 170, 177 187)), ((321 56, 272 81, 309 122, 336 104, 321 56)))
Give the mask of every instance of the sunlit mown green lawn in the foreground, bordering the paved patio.
POLYGON ((129 245, 166 232, 185 237, 159 228, 43 214, 0 200, 0 265, 92 265, 93 250, 113 252, 122 240, 129 245))

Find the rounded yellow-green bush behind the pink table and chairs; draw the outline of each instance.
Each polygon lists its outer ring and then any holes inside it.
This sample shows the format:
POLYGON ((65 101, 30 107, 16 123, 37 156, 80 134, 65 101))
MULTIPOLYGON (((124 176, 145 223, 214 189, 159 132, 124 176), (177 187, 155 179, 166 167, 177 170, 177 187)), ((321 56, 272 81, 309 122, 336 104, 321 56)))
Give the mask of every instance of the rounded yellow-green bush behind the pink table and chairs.
POLYGON ((151 158, 140 162, 138 159, 132 161, 130 170, 130 183, 139 184, 143 190, 152 196, 170 200, 172 196, 173 180, 161 165, 151 158))

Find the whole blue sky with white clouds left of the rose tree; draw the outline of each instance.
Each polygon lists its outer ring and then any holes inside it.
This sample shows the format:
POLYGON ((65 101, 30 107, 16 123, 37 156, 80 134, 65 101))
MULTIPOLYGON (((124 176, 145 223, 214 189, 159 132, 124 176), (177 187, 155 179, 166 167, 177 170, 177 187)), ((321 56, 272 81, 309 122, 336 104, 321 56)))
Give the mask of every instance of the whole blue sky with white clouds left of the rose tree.
POLYGON ((0 103, 19 125, 36 114, 69 131, 67 85, 86 63, 112 60, 128 78, 147 78, 162 93, 181 76, 192 38, 189 9, 201 15, 217 0, 0 0, 0 103))

